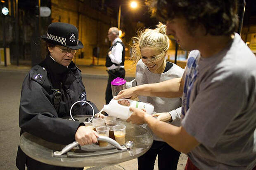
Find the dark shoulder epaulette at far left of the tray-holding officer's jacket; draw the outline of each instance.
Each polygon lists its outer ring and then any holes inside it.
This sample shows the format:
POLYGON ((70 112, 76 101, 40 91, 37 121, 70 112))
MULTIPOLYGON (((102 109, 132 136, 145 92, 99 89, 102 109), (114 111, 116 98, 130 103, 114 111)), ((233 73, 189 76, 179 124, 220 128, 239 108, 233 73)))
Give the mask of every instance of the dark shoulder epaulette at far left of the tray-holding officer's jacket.
POLYGON ((31 79, 38 82, 39 84, 43 84, 47 77, 47 70, 40 65, 34 66, 31 70, 33 70, 33 75, 31 79))

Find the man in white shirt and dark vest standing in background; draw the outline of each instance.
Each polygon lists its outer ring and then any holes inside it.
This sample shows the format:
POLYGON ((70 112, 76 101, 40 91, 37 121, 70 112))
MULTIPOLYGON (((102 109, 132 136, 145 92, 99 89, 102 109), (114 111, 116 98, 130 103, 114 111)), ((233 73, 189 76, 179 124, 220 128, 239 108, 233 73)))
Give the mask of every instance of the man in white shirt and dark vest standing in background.
POLYGON ((106 104, 109 104, 110 100, 113 98, 111 90, 111 81, 117 77, 124 78, 124 57, 125 57, 125 46, 122 40, 119 38, 119 30, 116 27, 109 28, 108 32, 109 41, 112 42, 112 46, 106 57, 106 67, 109 73, 109 79, 106 89, 106 104))

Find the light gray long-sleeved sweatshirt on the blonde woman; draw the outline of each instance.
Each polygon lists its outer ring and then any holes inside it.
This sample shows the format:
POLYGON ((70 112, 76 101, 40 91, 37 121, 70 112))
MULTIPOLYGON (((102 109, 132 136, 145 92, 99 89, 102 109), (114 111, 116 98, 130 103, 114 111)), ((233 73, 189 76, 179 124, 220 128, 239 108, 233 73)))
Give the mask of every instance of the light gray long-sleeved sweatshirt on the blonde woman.
MULTIPOLYGON (((169 79, 182 77, 184 70, 178 65, 173 63, 173 66, 166 72, 161 74, 152 73, 148 70, 147 66, 142 62, 138 61, 136 65, 136 77, 133 80, 132 86, 142 85, 142 84, 151 84, 164 82, 169 79)), ((128 86, 129 85, 128 83, 128 86)), ((138 97, 142 102, 149 102, 154 105, 154 112, 169 112, 173 121, 171 122, 174 126, 180 126, 181 122, 181 98, 161 98, 161 97, 149 97, 149 96, 139 96, 138 97)), ((154 140, 163 141, 161 138, 156 136, 152 130, 147 127, 145 124, 143 127, 147 128, 153 135, 154 140)))

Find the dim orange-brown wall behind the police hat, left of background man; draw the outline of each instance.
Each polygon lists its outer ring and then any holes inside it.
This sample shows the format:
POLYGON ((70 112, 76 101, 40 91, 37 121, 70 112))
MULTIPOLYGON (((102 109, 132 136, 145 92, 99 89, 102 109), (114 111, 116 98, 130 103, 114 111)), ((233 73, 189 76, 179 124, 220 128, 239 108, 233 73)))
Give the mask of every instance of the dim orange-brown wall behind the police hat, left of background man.
POLYGON ((92 58, 94 47, 100 47, 100 57, 107 54, 109 49, 109 41, 106 41, 107 32, 111 26, 116 26, 116 19, 107 13, 109 10, 106 12, 96 10, 78 0, 52 0, 51 4, 52 22, 70 23, 79 30, 79 40, 84 48, 76 53, 74 58, 76 64, 90 65, 91 63, 85 63, 84 58, 92 58))

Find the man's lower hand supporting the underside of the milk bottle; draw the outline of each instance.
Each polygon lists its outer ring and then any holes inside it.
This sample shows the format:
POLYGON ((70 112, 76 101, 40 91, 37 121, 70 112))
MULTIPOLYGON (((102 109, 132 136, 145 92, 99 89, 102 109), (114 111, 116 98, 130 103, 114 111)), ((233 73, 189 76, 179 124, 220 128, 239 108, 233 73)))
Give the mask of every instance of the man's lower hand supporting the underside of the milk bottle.
POLYGON ((145 109, 137 109, 135 107, 130 107, 130 111, 133 112, 132 115, 126 120, 127 122, 132 122, 133 124, 144 124, 145 123, 145 117, 151 116, 146 113, 145 109))

